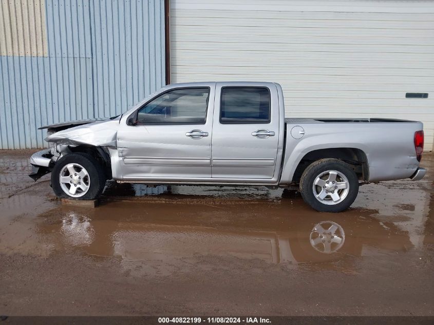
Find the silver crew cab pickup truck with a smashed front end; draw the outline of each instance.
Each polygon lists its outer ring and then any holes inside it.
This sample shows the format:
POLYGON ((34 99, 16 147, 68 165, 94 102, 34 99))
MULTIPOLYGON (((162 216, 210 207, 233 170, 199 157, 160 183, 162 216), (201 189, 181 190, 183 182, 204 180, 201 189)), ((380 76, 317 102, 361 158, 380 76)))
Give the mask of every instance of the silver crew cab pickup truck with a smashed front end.
MULTIPOLYGON (((291 113, 289 111, 289 116, 291 113)), ((105 182, 297 186, 312 208, 340 212, 368 182, 420 180, 423 124, 285 118, 277 83, 168 85, 121 116, 48 125, 31 157, 58 197, 89 200, 105 182)))

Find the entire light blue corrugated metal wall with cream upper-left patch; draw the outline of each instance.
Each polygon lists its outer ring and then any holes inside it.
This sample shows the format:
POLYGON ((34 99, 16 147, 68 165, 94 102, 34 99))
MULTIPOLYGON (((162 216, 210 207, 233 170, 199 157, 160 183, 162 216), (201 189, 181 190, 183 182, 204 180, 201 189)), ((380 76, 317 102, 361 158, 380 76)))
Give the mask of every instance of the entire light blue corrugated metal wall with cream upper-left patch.
POLYGON ((163 0, 0 0, 0 148, 110 117, 164 85, 163 0))

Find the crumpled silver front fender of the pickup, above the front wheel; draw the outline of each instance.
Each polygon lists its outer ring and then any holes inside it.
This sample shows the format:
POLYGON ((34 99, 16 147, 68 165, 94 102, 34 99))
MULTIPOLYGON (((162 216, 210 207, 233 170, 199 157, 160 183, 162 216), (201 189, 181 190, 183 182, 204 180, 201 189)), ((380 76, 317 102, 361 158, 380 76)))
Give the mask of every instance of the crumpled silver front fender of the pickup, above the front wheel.
POLYGON ((88 144, 93 146, 116 147, 116 136, 119 128, 117 117, 113 120, 93 122, 58 131, 45 138, 47 142, 61 145, 88 144))

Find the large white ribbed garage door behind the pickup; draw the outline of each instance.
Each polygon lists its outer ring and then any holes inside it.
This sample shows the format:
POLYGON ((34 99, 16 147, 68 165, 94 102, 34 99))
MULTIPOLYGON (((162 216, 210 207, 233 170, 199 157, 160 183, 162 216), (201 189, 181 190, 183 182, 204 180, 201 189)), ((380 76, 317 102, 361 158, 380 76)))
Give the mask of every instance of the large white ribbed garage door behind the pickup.
POLYGON ((278 82, 286 117, 420 120, 432 150, 434 2, 170 0, 170 16, 172 83, 278 82))

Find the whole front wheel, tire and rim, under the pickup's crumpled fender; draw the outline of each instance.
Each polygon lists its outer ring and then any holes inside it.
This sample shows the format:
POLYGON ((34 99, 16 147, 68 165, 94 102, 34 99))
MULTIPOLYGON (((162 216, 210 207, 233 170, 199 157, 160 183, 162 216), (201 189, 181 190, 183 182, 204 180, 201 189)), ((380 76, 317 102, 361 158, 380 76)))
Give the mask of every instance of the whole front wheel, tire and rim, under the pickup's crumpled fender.
POLYGON ((59 198, 93 200, 105 185, 103 168, 92 156, 77 152, 59 159, 51 172, 51 186, 59 198))

